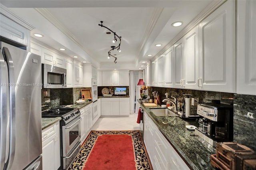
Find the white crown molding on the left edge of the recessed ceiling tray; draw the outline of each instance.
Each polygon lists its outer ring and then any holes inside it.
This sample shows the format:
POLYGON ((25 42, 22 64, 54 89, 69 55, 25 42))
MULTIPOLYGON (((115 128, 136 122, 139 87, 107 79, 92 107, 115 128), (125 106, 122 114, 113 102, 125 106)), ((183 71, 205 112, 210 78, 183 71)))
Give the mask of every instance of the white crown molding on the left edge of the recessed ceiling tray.
POLYGON ((41 14, 46 20, 52 23, 56 28, 58 28, 63 34, 65 34, 70 40, 72 40, 76 45, 82 48, 88 55, 92 56, 88 49, 82 45, 79 40, 74 36, 64 25, 62 25, 46 8, 34 8, 39 14, 41 14))

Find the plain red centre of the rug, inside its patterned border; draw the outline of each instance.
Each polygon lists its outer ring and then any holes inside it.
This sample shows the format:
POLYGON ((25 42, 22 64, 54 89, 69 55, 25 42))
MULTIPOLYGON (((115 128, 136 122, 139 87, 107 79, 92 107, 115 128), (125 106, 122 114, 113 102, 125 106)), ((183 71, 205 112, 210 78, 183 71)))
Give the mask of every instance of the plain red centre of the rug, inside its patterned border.
POLYGON ((98 136, 83 170, 136 170, 132 136, 103 134, 98 136))

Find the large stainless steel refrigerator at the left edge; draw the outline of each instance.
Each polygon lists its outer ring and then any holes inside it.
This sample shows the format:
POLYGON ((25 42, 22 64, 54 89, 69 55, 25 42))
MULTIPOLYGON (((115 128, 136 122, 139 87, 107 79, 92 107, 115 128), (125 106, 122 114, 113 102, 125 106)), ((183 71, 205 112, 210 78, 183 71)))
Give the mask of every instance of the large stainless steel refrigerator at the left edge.
POLYGON ((0 43, 0 170, 41 170, 41 57, 0 43))

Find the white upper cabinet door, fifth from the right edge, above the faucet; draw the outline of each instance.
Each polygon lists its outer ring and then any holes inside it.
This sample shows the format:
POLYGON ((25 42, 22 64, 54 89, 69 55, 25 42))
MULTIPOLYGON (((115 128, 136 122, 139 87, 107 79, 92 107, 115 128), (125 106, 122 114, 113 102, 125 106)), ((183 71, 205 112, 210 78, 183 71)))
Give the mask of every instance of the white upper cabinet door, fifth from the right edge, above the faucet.
POLYGON ((164 54, 164 86, 173 87, 173 46, 164 54))

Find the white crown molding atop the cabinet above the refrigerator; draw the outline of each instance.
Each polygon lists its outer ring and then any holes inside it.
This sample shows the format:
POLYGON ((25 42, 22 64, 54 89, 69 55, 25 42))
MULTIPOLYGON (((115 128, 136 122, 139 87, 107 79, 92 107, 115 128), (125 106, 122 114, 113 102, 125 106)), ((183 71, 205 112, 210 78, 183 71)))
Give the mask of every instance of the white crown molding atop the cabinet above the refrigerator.
POLYGON ((30 31, 35 29, 35 27, 32 24, 30 24, 26 20, 20 18, 19 16, 14 14, 14 12, 9 10, 6 6, 4 6, 2 4, 0 4, 0 13, 3 14, 4 16, 6 16, 7 18, 10 18, 14 22, 18 23, 19 25, 23 26, 24 28, 26 28, 30 31))

